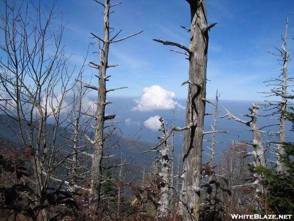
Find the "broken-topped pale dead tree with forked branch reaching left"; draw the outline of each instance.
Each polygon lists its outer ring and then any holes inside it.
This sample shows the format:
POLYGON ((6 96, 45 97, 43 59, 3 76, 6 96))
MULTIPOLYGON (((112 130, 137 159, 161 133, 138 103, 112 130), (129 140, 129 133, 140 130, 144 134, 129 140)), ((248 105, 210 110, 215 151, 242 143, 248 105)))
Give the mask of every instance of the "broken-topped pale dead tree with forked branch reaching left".
MULTIPOLYGON (((246 126, 250 127, 250 131, 252 132, 253 141, 252 142, 245 142, 246 145, 250 145, 253 147, 253 150, 251 152, 245 152, 247 156, 251 156, 253 158, 253 166, 266 166, 266 159, 265 159, 265 147, 264 143, 262 141, 262 137, 260 135, 260 129, 257 125, 257 116, 258 116, 258 105, 256 103, 252 104, 252 108, 249 108, 250 113, 245 114, 245 116, 250 117, 251 120, 245 121, 237 116, 230 113, 228 110, 223 108, 227 113, 223 117, 228 117, 229 119, 234 119, 240 123, 245 124, 246 126)), ((244 153, 244 152, 241 152, 244 153)), ((256 185, 256 191, 264 193, 264 188, 261 184, 262 177, 259 175, 256 175, 257 180, 253 184, 256 185)))

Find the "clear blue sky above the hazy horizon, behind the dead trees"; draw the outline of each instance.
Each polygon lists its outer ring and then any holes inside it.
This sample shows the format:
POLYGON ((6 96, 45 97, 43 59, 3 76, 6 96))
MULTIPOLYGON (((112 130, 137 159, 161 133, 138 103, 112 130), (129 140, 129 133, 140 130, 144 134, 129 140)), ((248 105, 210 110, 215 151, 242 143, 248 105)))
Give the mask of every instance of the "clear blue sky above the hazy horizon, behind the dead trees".
MULTIPOLYGON (((51 2, 42 0, 44 4, 51 2)), ((71 65, 80 66, 89 42, 94 41, 90 32, 102 34, 103 8, 94 0, 59 0, 58 9, 68 22, 63 43, 72 55, 71 65)), ((144 32, 111 45, 109 63, 120 66, 109 70, 112 78, 108 86, 128 86, 112 95, 139 97, 144 87, 160 85, 177 98, 186 98, 187 88, 180 85, 188 79, 188 60, 152 38, 189 46, 189 33, 180 28, 190 25, 189 4, 185 0, 123 0, 114 10, 110 24, 115 32, 123 29, 121 37, 144 32)), ((207 15, 209 23, 218 22, 209 33, 207 97, 219 89, 221 99, 263 100, 256 91, 266 90, 263 81, 277 77, 279 72, 275 71, 280 69, 276 57, 266 51, 275 52, 272 46, 280 48, 287 16, 288 51, 294 54, 294 1, 207 0, 207 15)), ((58 24, 58 19, 55 22, 58 24)), ((98 55, 92 54, 95 51, 97 45, 91 46, 87 61, 98 62, 98 55)), ((290 62, 290 75, 293 69, 290 62)), ((85 80, 90 81, 93 73, 86 69, 85 80)))

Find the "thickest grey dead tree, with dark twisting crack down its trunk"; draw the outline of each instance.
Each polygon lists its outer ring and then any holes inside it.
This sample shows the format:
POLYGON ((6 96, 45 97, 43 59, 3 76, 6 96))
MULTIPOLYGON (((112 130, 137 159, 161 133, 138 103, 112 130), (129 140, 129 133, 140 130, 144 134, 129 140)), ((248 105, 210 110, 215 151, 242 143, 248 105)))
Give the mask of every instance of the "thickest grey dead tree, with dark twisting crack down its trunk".
MULTIPOLYGON (((216 23, 207 24, 206 1, 187 0, 191 9, 191 27, 185 28, 191 32, 190 48, 172 42, 153 39, 164 45, 176 46, 182 51, 176 53, 189 57, 188 99, 185 125, 189 130, 184 133, 183 144, 183 211, 186 220, 198 220, 200 208, 201 159, 203 124, 206 98, 206 66, 208 50, 208 31, 216 23)), ((182 85, 183 85, 182 84, 182 85)))

